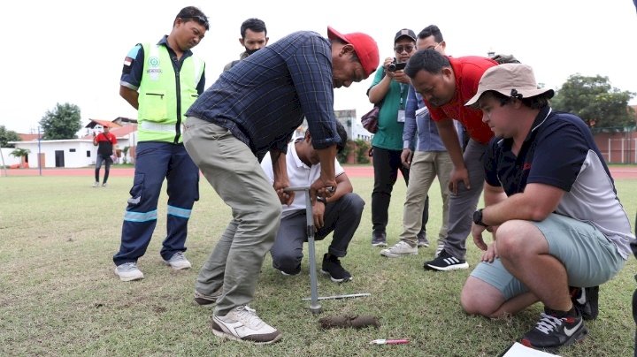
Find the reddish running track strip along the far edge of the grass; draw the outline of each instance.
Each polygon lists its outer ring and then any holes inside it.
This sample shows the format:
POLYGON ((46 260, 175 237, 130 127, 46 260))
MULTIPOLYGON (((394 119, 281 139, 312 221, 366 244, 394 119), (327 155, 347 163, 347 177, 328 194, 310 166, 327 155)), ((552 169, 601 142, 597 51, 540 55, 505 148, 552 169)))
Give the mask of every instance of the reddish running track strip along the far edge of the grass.
MULTIPOLYGON (((350 178, 373 178, 372 165, 365 166, 344 166, 350 178)), ((104 174, 104 170, 101 172, 104 174)), ((42 176, 93 176, 95 169, 42 169, 42 176)), ((110 176, 133 177, 133 168, 111 167, 110 176)), ((610 174, 613 178, 637 178, 637 166, 613 166, 610 167, 610 174)), ((7 169, 0 170, 0 176, 38 176, 38 169, 7 169), (6 175, 5 175, 6 172, 6 175)))

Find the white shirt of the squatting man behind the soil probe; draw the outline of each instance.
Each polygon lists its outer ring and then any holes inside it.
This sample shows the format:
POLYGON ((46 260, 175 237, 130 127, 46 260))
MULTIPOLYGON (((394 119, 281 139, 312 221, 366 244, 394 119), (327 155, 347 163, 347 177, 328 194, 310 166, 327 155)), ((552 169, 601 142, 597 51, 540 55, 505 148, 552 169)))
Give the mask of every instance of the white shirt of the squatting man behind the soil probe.
MULTIPOLYGON (((320 177, 320 163, 312 166, 308 166, 296 154, 295 143, 288 144, 288 155, 286 155, 286 166, 288 168, 288 178, 290 186, 311 186, 320 177)), ((269 154, 266 154, 263 161, 261 161, 261 167, 265 172, 265 176, 270 178, 270 181, 274 183, 274 172, 272 171, 272 158, 269 154)), ((345 170, 336 159, 334 159, 334 173, 335 176, 341 175, 345 170)), ((295 199, 291 205, 284 204, 281 209, 281 216, 290 216, 297 210, 305 209, 305 191, 296 191, 295 199)))

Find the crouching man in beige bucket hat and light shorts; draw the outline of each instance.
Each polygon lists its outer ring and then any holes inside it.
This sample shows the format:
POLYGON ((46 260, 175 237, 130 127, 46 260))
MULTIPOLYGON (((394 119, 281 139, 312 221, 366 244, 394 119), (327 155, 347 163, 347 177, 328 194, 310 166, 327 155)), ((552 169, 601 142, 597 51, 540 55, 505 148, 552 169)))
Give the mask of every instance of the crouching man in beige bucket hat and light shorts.
POLYGON ((614 277, 635 241, 610 171, 584 122, 549 106, 528 65, 487 70, 468 106, 483 112, 495 138, 485 154, 486 207, 472 237, 484 251, 464 284, 469 314, 515 314, 537 301, 540 321, 522 344, 555 350, 587 335, 569 285, 614 277), (493 244, 482 238, 492 232, 493 244))

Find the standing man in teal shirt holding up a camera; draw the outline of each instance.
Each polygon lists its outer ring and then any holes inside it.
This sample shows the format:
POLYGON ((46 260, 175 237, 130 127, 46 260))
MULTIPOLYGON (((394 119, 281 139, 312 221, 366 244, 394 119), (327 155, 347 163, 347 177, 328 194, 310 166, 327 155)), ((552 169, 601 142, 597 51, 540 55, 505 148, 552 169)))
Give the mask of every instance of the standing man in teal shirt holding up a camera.
MULTIPOLYGON (((374 187, 372 191, 372 246, 386 247, 389 201, 398 171, 409 182, 409 169, 401 163, 403 126, 410 79, 404 65, 416 52, 416 34, 407 28, 394 36, 395 57, 385 58, 367 91, 370 102, 380 105, 378 132, 372 139, 374 187)), ((423 210, 423 224, 418 238, 425 238, 428 207, 423 210)))

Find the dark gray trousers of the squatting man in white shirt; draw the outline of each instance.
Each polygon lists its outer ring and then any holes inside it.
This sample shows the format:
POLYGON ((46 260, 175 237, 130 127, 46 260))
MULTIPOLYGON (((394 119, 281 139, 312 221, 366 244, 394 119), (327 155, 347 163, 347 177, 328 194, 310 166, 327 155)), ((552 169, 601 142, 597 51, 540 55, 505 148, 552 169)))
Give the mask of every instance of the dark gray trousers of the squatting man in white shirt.
MULTIPOLYGON (((327 248, 329 254, 338 257, 347 254, 349 241, 357 231, 364 207, 365 201, 357 194, 345 194, 340 200, 327 203, 325 224, 316 232, 316 239, 324 239, 329 233, 334 232, 332 243, 327 248)), ((302 209, 281 218, 279 232, 270 249, 272 267, 275 269, 287 274, 297 274, 301 271, 303 242, 307 241, 305 217, 305 209, 302 209)))

